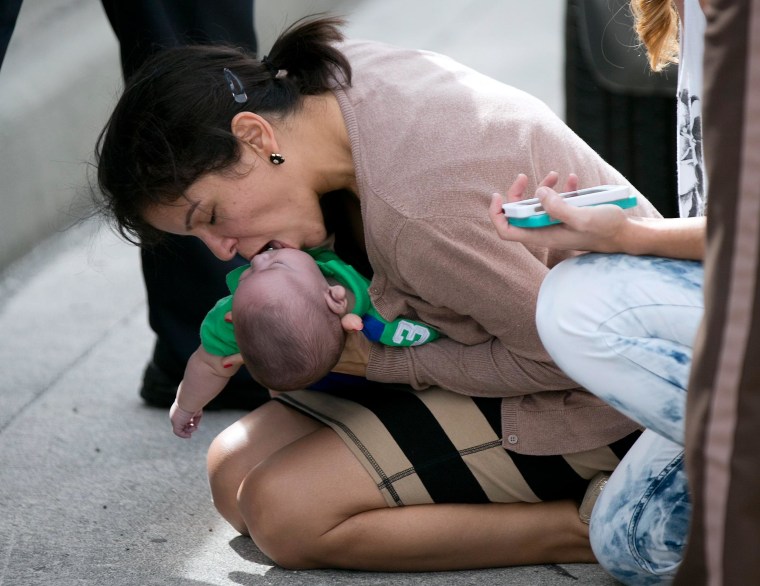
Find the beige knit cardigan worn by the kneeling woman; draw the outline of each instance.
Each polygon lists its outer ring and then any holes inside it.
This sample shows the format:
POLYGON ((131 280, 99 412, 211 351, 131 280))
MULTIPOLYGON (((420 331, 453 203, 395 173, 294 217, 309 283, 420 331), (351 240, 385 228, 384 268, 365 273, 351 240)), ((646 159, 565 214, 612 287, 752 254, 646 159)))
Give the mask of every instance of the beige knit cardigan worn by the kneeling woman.
MULTIPOLYGON (((499 239, 490 196, 518 173, 581 187, 628 183, 539 100, 444 56, 373 42, 342 46, 353 67, 336 89, 353 151, 372 302, 446 339, 374 345, 368 378, 504 397, 504 446, 579 452, 637 425, 579 388, 538 337, 535 304, 551 266, 572 253, 499 239)), ((507 58, 507 57, 505 57, 507 58)), ((538 73, 540 74, 540 72, 538 73)), ((636 215, 659 215, 640 196, 636 215)))

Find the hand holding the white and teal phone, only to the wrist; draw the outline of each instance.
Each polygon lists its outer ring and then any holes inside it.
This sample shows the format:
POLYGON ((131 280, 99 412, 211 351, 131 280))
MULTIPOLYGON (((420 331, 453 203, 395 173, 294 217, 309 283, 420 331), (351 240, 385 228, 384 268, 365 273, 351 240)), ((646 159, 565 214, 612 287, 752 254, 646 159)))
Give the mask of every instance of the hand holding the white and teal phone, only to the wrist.
MULTIPOLYGON (((575 207, 564 201, 552 189, 559 178, 550 173, 536 190, 536 197, 546 212, 561 224, 545 228, 518 228, 507 221, 502 204, 502 196, 494 193, 491 198, 489 216, 496 231, 503 240, 560 248, 565 250, 593 250, 597 252, 625 252, 623 242, 630 226, 628 216, 616 205, 575 207)), ((518 175, 507 191, 507 201, 520 201, 525 197, 528 178, 518 175)), ((578 188, 578 177, 570 175, 565 191, 578 188)))

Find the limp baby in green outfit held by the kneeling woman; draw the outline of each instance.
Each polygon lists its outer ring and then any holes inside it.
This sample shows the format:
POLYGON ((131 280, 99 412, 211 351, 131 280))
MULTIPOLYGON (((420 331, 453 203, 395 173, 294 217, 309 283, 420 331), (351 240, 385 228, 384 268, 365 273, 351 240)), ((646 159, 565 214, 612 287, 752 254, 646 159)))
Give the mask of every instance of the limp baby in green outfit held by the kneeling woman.
POLYGON ((388 322, 372 306, 369 280, 327 249, 269 250, 227 275, 231 295, 201 325, 170 410, 174 433, 189 438, 202 410, 242 364, 268 389, 304 389, 338 363, 346 332, 373 342, 417 346, 439 337, 405 318, 388 322), (233 328, 230 316, 234 316, 233 328))

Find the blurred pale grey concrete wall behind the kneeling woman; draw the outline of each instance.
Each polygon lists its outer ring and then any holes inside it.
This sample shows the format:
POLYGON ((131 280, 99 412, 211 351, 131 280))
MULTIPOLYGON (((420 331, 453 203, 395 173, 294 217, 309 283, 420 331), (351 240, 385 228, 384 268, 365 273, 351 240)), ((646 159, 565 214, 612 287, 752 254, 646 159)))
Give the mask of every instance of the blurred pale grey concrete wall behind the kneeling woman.
MULTIPOLYGON (((446 53, 562 113, 558 0, 258 0, 261 53, 324 11, 347 17, 350 36, 446 53)), ((22 4, 0 69, 0 270, 85 213, 88 163, 121 87, 99 0, 22 4)))

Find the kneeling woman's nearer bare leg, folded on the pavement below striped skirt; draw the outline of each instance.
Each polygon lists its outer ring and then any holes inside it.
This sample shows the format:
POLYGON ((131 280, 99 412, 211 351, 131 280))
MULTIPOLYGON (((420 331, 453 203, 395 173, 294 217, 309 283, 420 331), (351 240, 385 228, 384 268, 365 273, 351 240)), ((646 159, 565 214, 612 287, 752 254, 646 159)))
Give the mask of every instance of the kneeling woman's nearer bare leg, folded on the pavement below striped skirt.
POLYGON ((439 504, 390 508, 328 428, 248 474, 240 512, 259 548, 287 568, 452 570, 593 562, 575 504, 439 504))

